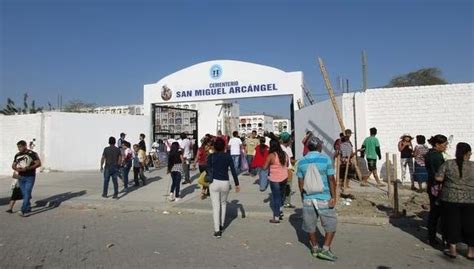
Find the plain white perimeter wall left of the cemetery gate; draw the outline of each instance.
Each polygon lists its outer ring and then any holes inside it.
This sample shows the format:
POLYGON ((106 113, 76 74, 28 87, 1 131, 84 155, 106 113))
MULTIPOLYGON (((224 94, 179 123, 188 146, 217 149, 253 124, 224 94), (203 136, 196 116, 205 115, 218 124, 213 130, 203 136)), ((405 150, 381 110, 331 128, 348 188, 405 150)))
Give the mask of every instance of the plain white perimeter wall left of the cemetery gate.
MULTIPOLYGON (((36 138, 43 169, 74 171, 99 169, 109 136, 138 143, 147 123, 144 116, 48 112, 0 117, 0 174, 11 173, 16 142, 36 138)), ((150 147, 150 145, 147 145, 150 147)))

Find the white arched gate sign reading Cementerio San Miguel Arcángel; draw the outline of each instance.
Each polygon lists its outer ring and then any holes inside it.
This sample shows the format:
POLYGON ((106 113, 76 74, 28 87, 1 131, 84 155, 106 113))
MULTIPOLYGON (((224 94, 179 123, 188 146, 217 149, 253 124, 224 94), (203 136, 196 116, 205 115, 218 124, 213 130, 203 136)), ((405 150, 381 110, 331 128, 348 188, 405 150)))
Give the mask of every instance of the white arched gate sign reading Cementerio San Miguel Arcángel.
POLYGON ((145 85, 145 106, 152 103, 196 102, 223 99, 294 96, 303 100, 302 72, 231 60, 209 61, 145 85))

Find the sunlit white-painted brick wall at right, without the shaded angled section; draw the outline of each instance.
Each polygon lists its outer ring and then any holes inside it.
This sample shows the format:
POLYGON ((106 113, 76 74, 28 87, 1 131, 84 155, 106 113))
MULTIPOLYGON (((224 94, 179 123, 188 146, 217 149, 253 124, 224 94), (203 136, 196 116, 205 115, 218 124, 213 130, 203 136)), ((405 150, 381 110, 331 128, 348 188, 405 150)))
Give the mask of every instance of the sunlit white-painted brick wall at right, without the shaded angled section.
MULTIPOLYGON (((359 147, 368 129, 376 127, 384 158, 385 152, 390 152, 399 159, 397 144, 403 133, 427 139, 435 134, 451 137, 448 154, 452 157, 458 142, 474 146, 474 83, 369 89, 357 95, 365 95, 356 102, 357 118, 365 118, 365 122, 357 122, 359 147)), ((349 128, 353 128, 352 96, 343 98, 344 121, 349 128)), ((398 175, 400 178, 400 170, 398 175)))

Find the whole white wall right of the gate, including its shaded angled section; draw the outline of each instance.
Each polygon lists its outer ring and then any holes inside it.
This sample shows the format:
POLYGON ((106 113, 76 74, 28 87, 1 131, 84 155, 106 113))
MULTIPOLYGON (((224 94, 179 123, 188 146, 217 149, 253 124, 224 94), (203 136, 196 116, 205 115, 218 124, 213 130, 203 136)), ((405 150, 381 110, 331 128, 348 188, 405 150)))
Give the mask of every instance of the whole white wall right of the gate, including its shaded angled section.
MULTIPOLYGON (((338 96, 337 100, 346 128, 355 130, 351 140, 355 143, 357 137, 359 148, 369 129, 377 128, 383 155, 379 170, 384 167, 386 152, 396 153, 397 159, 400 158, 397 144, 403 133, 414 137, 424 135, 426 139, 443 134, 451 138, 447 152, 452 157, 458 142, 474 146, 474 83, 369 89, 365 93, 338 96), (357 128, 354 128, 354 103, 357 128)), ((326 134, 332 137, 331 142, 338 138, 340 128, 335 118, 329 100, 296 111, 297 156, 301 156, 305 130, 315 129, 320 136, 326 134)), ((325 149, 333 154, 332 145, 326 144, 325 149)), ((399 177, 400 173, 399 169, 399 177)))

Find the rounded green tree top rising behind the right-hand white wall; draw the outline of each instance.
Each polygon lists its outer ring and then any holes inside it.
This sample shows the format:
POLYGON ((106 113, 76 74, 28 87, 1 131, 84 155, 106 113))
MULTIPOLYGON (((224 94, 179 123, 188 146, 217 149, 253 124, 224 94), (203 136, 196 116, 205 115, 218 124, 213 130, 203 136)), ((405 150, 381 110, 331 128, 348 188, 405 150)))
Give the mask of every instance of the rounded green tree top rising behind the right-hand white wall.
POLYGON ((425 86, 447 83, 441 76, 441 71, 438 68, 429 67, 394 77, 386 87, 425 86))

